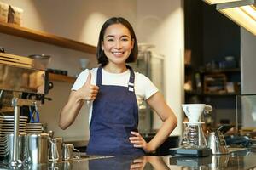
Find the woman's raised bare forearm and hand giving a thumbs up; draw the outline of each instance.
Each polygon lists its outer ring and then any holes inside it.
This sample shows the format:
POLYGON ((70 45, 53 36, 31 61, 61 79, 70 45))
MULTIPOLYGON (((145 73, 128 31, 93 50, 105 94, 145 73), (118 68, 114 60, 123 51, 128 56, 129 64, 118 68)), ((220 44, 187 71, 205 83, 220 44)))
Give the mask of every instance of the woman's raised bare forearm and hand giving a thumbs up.
POLYGON ((69 127, 78 116, 81 110, 84 100, 94 100, 96 99, 96 94, 99 88, 95 85, 90 84, 91 73, 89 72, 88 77, 82 88, 77 91, 71 91, 67 104, 61 110, 59 126, 61 129, 66 129, 69 127))

